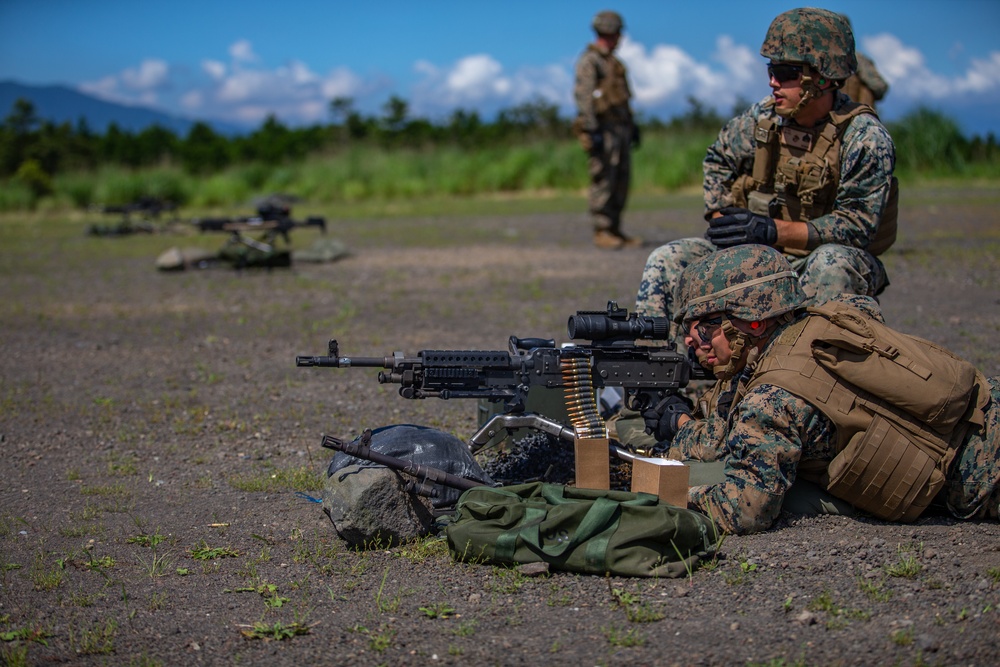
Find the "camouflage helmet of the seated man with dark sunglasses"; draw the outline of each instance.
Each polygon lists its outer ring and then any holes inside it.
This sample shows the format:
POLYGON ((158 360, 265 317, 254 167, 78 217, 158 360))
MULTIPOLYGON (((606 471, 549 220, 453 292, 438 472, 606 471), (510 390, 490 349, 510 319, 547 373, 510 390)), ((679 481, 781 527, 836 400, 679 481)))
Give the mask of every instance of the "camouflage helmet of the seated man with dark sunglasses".
POLYGON ((832 81, 842 81, 858 69, 850 22, 826 9, 804 7, 779 14, 767 30, 760 55, 772 62, 807 63, 832 81))

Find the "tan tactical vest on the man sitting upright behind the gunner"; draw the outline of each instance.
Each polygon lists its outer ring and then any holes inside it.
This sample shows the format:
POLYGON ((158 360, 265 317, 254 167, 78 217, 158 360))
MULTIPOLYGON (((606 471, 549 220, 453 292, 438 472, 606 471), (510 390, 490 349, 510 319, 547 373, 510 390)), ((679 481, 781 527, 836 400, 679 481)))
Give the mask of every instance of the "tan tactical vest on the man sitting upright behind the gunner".
MULTIPOLYGON (((765 105, 765 110, 773 101, 765 105)), ((754 130, 756 144, 753 170, 733 183, 734 204, 754 213, 781 220, 808 222, 833 211, 840 185, 840 151, 844 131, 862 114, 877 117, 866 104, 848 102, 830 112, 830 120, 814 128, 780 125, 772 117, 761 118, 754 130)), ((879 220, 875 238, 867 250, 880 255, 896 241, 899 216, 899 183, 893 176, 889 198, 879 220)), ((810 251, 783 248, 789 255, 810 251)))

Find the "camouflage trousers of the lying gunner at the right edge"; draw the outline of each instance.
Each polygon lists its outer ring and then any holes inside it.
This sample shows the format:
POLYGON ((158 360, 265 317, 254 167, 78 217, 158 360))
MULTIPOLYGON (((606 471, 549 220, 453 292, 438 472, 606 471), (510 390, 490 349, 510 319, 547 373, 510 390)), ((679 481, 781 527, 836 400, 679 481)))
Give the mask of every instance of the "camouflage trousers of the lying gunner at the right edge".
POLYGON ((1000 518, 1000 376, 987 382, 986 425, 966 436, 938 496, 963 519, 1000 518))

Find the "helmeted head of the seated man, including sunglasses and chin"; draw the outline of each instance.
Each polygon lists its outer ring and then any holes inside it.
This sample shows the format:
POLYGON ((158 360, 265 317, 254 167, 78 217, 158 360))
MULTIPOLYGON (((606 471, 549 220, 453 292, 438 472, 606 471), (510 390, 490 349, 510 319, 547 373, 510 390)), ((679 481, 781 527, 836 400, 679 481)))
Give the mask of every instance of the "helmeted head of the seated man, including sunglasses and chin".
POLYGON ((760 54, 778 83, 801 80, 803 95, 792 108, 777 113, 794 118, 810 100, 839 88, 858 69, 854 32, 843 14, 803 7, 779 14, 767 30, 760 54))

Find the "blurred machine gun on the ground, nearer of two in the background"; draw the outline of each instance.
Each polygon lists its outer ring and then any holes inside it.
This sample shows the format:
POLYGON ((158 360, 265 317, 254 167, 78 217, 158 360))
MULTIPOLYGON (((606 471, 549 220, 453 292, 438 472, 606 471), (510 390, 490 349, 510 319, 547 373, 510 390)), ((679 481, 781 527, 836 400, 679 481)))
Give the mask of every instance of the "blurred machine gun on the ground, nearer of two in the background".
POLYGON ((278 239, 291 243, 291 231, 296 227, 319 227, 326 233, 326 218, 310 216, 303 220, 292 218, 294 198, 270 195, 257 203, 257 215, 238 218, 199 218, 191 224, 202 232, 226 232, 229 239, 217 254, 217 259, 231 263, 238 269, 252 267, 287 267, 292 264, 292 253, 281 247, 278 239), (251 234, 259 233, 256 238, 251 234))

